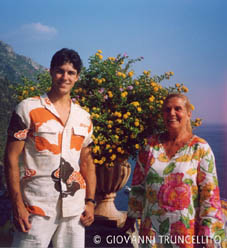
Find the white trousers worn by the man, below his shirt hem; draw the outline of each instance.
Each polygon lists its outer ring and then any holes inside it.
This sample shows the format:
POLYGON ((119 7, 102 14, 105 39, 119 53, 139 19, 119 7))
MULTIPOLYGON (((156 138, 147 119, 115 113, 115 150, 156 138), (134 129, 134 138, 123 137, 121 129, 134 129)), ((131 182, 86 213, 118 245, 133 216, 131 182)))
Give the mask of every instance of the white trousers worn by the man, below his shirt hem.
POLYGON ((43 217, 31 216, 31 229, 28 233, 15 232, 12 247, 47 248, 52 240, 54 248, 84 248, 85 229, 80 216, 43 217))

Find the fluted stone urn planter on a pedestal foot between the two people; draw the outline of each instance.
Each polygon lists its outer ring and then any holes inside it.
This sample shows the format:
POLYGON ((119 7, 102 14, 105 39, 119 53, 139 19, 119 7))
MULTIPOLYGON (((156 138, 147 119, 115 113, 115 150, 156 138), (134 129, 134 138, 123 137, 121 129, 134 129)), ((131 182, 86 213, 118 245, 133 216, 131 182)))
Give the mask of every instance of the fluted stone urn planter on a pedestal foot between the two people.
POLYGON ((121 226, 126 219, 126 212, 117 210, 114 199, 119 191, 127 183, 131 173, 128 161, 119 162, 113 167, 97 166, 97 188, 95 218, 112 220, 121 226))

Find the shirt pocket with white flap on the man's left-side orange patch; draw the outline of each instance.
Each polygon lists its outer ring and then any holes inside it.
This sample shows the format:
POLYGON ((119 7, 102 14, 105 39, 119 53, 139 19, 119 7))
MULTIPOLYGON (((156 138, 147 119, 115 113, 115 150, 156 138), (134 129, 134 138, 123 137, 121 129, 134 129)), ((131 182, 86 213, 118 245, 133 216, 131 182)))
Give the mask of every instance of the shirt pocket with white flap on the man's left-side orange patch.
POLYGON ((61 152, 62 133, 60 130, 53 130, 45 125, 39 127, 34 136, 36 151, 42 154, 51 152, 55 155, 61 152))

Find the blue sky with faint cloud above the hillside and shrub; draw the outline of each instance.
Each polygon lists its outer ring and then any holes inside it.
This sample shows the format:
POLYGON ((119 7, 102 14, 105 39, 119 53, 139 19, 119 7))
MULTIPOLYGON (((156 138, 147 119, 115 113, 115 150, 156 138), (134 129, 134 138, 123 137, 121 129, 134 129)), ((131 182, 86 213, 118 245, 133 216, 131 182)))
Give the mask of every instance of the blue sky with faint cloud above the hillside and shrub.
POLYGON ((226 0, 1 1, 0 40, 49 67, 62 47, 85 65, 104 57, 143 56, 136 73, 173 71, 163 85, 184 83, 204 123, 227 123, 226 0))

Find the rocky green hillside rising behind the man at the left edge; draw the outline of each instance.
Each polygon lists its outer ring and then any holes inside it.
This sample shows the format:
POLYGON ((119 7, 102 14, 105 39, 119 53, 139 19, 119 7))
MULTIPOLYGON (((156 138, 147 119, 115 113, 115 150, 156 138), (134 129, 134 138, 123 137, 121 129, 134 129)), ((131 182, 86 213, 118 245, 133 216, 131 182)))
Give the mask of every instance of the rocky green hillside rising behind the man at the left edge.
POLYGON ((9 119, 16 104, 10 85, 21 83, 22 77, 36 80, 43 70, 43 66, 16 54, 9 45, 0 41, 0 161, 3 159, 9 119))

